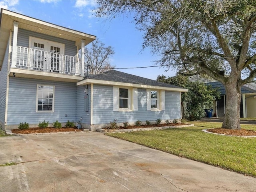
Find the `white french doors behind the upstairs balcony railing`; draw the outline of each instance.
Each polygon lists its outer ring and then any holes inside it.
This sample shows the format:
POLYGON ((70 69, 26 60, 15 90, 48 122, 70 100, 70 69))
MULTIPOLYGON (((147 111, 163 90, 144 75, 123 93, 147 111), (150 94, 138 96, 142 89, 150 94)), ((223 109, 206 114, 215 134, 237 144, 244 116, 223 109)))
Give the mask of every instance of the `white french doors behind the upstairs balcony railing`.
POLYGON ((64 54, 64 44, 30 37, 30 48, 33 49, 32 61, 34 70, 59 72, 61 69, 60 54, 64 54))

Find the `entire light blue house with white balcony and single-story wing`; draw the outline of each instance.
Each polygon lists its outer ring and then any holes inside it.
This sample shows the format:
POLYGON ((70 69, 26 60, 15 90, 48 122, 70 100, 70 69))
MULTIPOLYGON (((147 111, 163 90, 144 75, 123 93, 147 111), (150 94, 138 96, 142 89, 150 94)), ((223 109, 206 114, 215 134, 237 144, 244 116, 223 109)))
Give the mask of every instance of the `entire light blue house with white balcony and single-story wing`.
POLYGON ((115 70, 84 76, 84 46, 95 36, 1 9, 0 124, 44 120, 96 130, 118 122, 181 118, 187 89, 115 70))

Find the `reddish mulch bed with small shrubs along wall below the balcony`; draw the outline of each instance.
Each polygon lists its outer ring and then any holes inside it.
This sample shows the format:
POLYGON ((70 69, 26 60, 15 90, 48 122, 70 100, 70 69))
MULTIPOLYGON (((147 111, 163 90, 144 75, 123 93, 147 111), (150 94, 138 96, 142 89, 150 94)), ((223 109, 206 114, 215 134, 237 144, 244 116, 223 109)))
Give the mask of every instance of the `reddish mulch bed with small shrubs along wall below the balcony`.
POLYGON ((28 128, 24 130, 20 129, 12 129, 12 133, 16 134, 29 134, 29 133, 52 133, 52 132, 70 132, 70 131, 83 131, 83 129, 77 129, 77 128, 53 128, 53 127, 48 127, 48 128, 28 128))

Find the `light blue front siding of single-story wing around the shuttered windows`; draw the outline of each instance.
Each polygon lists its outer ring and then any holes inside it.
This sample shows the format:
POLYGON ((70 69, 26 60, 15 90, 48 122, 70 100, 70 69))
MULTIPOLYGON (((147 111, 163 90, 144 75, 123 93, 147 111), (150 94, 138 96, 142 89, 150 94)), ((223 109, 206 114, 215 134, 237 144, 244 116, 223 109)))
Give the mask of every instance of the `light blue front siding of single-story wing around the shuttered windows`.
POLYGON ((113 111, 113 86, 94 85, 93 124, 181 118, 180 93, 165 91, 166 110, 147 111, 146 89, 138 89, 138 111, 113 111))

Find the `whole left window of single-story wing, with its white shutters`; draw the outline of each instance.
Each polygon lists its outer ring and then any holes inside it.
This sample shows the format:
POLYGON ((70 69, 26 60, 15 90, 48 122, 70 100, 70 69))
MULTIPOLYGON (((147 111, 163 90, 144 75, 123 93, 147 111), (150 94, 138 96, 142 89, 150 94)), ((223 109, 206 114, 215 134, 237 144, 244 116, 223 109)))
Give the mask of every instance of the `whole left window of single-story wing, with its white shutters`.
POLYGON ((138 90, 137 88, 113 86, 113 110, 138 111, 138 90))

